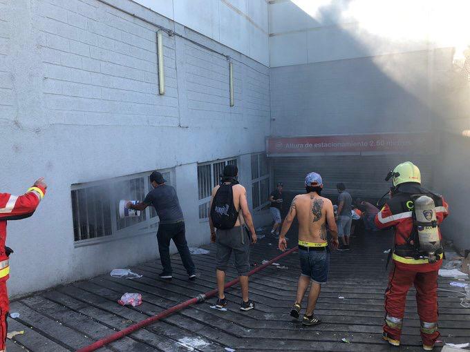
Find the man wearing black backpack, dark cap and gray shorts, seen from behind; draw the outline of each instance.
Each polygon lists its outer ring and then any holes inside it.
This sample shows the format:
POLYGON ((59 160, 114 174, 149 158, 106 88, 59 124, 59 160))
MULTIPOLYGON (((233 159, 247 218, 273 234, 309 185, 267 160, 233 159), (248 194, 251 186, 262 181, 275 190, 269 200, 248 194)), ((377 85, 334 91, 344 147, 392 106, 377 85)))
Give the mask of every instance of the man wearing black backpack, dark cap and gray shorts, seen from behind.
POLYGON ((225 271, 233 252, 243 298, 240 309, 241 311, 250 311, 250 309, 254 309, 254 302, 248 297, 247 273, 250 271, 250 242, 256 243, 256 233, 248 208, 247 192, 245 187, 238 184, 237 177, 238 168, 235 165, 225 166, 220 185, 212 190, 209 226, 211 228, 211 242, 217 244, 218 300, 216 308, 222 309, 227 305, 224 293, 225 271))

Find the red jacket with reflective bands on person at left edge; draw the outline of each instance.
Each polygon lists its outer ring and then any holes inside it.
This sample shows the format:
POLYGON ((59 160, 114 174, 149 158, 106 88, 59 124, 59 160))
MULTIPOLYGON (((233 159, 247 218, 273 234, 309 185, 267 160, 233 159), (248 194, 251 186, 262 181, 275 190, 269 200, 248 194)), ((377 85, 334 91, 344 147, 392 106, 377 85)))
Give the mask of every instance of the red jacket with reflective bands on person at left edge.
POLYGON ((44 197, 46 189, 39 186, 28 188, 24 195, 0 193, 0 282, 8 280, 10 266, 6 255, 6 222, 30 217, 44 197))

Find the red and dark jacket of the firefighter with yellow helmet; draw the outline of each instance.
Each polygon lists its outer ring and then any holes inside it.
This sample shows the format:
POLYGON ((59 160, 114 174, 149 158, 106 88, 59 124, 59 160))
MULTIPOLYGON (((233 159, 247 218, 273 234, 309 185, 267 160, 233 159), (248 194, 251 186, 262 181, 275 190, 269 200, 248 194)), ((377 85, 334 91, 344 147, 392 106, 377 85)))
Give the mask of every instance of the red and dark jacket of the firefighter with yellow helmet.
MULTIPOLYGON (((395 246, 406 245, 406 239, 409 239, 413 233, 413 200, 411 195, 421 194, 433 198, 435 204, 435 216, 438 224, 441 224, 449 214, 448 204, 440 195, 435 195, 431 191, 416 186, 405 186, 406 192, 397 192, 391 199, 387 199, 382 210, 375 217, 377 228, 395 227, 395 246)), ((401 188, 400 188, 401 190, 401 188)), ((442 235, 439 229, 439 237, 442 235)), ((408 271, 428 272, 436 271, 442 264, 442 259, 435 263, 429 263, 426 259, 415 260, 411 257, 400 257, 393 254, 393 261, 397 268, 408 271)))

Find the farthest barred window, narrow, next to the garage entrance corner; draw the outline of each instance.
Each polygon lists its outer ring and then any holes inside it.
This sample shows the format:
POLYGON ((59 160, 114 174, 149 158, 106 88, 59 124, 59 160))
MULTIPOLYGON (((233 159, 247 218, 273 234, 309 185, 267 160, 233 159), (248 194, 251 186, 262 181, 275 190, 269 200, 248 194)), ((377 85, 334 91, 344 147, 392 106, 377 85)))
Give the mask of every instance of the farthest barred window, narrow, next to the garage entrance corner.
POLYGON ((252 205, 254 211, 270 204, 270 170, 264 153, 252 155, 252 205))

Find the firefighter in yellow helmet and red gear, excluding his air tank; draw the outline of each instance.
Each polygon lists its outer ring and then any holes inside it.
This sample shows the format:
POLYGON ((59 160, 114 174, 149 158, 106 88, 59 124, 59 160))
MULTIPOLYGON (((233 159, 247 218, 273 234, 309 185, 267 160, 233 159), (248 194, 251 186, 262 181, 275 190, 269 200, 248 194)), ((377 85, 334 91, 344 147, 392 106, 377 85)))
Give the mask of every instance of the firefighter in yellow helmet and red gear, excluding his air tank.
MULTIPOLYGON (((415 222, 414 199, 426 195, 434 201, 435 222, 440 224, 448 215, 448 205, 441 195, 421 186, 420 169, 411 162, 398 165, 388 173, 392 179, 391 199, 375 217, 378 228, 395 228, 394 266, 388 277, 385 293, 384 340, 400 345, 405 311, 406 293, 414 284, 417 312, 421 320, 423 348, 431 351, 439 337, 438 332, 438 271, 442 265, 442 248, 429 260, 419 245, 415 222)), ((439 231, 439 230, 438 230, 439 231)), ((439 231, 439 239, 442 239, 439 231)))

